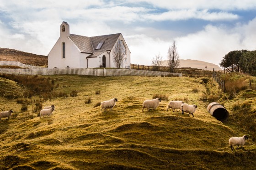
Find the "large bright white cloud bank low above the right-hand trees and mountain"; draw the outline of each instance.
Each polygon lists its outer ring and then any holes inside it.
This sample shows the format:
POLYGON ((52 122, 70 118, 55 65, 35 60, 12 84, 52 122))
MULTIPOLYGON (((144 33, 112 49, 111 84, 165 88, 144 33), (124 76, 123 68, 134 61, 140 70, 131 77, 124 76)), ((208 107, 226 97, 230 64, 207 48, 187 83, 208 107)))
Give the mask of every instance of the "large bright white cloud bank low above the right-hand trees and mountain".
POLYGON ((232 29, 208 25, 203 31, 176 37, 177 50, 181 59, 196 59, 219 65, 230 51, 255 50, 255 29, 256 19, 232 29))

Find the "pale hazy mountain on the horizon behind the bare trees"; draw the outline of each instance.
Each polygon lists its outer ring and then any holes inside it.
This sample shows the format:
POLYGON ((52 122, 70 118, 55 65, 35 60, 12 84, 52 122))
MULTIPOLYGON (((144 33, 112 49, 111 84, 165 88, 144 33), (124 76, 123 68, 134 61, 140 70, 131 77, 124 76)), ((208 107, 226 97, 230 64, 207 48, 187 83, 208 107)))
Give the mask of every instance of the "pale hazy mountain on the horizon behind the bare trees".
MULTIPOLYGON (((163 66, 167 66, 167 60, 163 61, 163 66)), ((212 71, 213 68, 214 70, 221 70, 221 68, 219 66, 217 66, 216 64, 210 63, 210 62, 202 62, 199 60, 180 60, 180 67, 191 67, 191 68, 198 68, 198 69, 202 69, 205 70, 205 66, 207 67, 207 70, 212 71)))

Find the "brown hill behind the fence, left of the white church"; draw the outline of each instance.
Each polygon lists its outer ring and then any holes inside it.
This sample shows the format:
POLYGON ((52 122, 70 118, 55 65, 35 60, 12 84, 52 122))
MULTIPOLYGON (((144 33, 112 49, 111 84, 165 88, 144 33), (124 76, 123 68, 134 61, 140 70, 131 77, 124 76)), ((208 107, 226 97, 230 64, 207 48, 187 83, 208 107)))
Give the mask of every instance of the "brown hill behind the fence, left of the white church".
POLYGON ((21 52, 9 48, 0 48, 0 61, 16 61, 33 66, 47 66, 48 57, 43 55, 21 52))

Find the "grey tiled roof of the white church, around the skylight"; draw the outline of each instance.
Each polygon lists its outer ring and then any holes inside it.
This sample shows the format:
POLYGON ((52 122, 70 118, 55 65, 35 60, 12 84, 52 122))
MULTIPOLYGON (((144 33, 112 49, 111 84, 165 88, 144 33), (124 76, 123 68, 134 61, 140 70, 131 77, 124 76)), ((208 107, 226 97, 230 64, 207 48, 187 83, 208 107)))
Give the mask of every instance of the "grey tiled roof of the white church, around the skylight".
POLYGON ((92 57, 96 57, 103 52, 112 50, 120 35, 121 33, 88 37, 70 34, 69 38, 75 43, 75 45, 80 49, 81 52, 91 53, 92 57), (104 43, 101 46, 101 49, 96 50, 99 42, 103 41, 104 43))

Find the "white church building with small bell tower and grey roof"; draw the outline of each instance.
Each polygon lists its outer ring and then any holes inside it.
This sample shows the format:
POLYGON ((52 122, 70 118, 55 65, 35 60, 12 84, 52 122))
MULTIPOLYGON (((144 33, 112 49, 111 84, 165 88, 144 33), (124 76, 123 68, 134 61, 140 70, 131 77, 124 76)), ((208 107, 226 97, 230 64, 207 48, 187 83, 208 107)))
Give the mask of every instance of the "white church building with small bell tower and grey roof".
POLYGON ((69 33, 69 24, 62 22, 60 37, 48 54, 48 68, 116 67, 113 60, 115 44, 124 47, 122 68, 131 65, 131 52, 121 33, 105 36, 79 36, 69 33))

